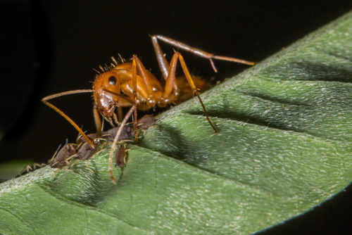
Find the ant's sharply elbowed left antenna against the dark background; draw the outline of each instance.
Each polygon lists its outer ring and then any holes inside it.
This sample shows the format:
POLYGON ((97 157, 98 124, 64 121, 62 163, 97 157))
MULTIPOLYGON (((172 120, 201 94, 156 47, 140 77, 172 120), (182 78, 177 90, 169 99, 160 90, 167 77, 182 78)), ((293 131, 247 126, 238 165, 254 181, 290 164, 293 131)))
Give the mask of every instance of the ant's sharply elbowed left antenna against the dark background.
POLYGON ((84 132, 82 131, 82 129, 80 127, 78 127, 78 125, 70 118, 68 117, 68 115, 65 115, 65 113, 63 113, 63 111, 61 111, 60 109, 58 109, 56 106, 54 106, 52 103, 49 103, 48 101, 60 96, 65 96, 68 94, 78 94, 78 93, 87 93, 87 92, 92 92, 92 90, 90 89, 82 89, 82 90, 75 90, 75 91, 65 91, 65 92, 61 92, 58 94, 54 94, 51 96, 46 96, 42 99, 43 103, 46 104, 46 106, 49 106, 50 108, 54 109, 58 114, 60 114, 61 116, 63 116, 63 118, 65 118, 65 120, 67 120, 68 122, 70 122, 71 125, 73 125, 73 127, 75 127, 75 129, 77 129, 78 132, 80 132, 80 134, 83 136, 83 138, 87 141, 87 143, 92 146, 92 148, 95 148, 95 145, 93 144, 92 140, 89 139, 89 137, 84 134, 84 132))

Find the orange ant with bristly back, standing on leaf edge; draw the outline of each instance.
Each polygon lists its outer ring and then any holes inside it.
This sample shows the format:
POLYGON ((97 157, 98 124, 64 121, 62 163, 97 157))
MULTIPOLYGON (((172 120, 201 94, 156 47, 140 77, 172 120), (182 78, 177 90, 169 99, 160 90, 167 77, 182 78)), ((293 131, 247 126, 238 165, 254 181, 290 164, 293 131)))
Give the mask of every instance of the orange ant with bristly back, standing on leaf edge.
MULTIPOLYGON (((63 116, 63 118, 68 120, 68 122, 70 122, 70 124, 73 125, 73 127, 75 127, 78 132, 80 132, 82 137, 90 146, 92 146, 92 148, 95 148, 95 144, 93 143, 92 139, 89 139, 89 137, 84 134, 82 129, 78 127, 78 125, 72 119, 70 119, 68 115, 65 115, 63 111, 56 108, 56 106, 49 103, 48 101, 50 99, 54 99, 59 96, 65 96, 68 94, 92 92, 94 96, 94 122, 98 135, 102 132, 101 118, 99 117, 99 114, 103 117, 104 120, 109 122, 112 126, 115 126, 119 125, 118 120, 122 119, 122 108, 131 107, 128 115, 126 115, 120 127, 125 125, 127 118, 129 118, 133 112, 134 136, 135 140, 137 141, 137 110, 149 110, 155 106, 165 107, 179 99, 180 93, 182 91, 179 89, 179 84, 177 82, 180 80, 180 78, 175 77, 175 71, 177 67, 177 61, 180 61, 184 76, 186 77, 186 80, 191 87, 193 96, 197 96, 203 108, 203 112, 206 115, 206 119, 208 120, 210 126, 213 128, 214 132, 218 133, 217 129, 209 119, 206 107, 204 106, 203 101, 199 96, 198 89, 194 84, 194 80, 189 73, 183 56, 180 52, 175 51, 169 64, 164 56, 163 51, 161 50, 161 47, 159 46, 158 40, 184 51, 194 53, 196 56, 207 58, 215 72, 217 72, 217 70, 213 63, 213 59, 243 63, 246 65, 254 65, 253 62, 244 61, 238 58, 215 56, 213 53, 201 51, 200 49, 188 46, 182 42, 177 42, 174 39, 170 39, 161 35, 153 35, 151 36, 151 42, 153 43, 156 59, 161 69, 163 79, 165 80, 164 87, 161 82, 151 74, 149 70, 144 68, 144 65, 137 56, 132 57, 132 62, 125 62, 121 58, 121 63, 118 63, 115 61, 115 58, 112 58, 113 63, 111 63, 111 66, 100 66, 101 72, 98 71, 98 75, 96 75, 93 89, 80 89, 75 91, 61 92, 51 96, 46 96, 42 99, 42 101, 50 108, 56 110, 56 112, 63 116), (118 108, 118 116, 115 114, 116 108, 118 108)), ((117 136, 115 136, 115 139, 118 139, 118 135, 119 133, 117 136)), ((116 143, 117 141, 114 141, 111 156, 115 150, 116 143)), ((109 172, 111 173, 111 179, 115 183, 111 172, 111 159, 109 159, 109 172)))

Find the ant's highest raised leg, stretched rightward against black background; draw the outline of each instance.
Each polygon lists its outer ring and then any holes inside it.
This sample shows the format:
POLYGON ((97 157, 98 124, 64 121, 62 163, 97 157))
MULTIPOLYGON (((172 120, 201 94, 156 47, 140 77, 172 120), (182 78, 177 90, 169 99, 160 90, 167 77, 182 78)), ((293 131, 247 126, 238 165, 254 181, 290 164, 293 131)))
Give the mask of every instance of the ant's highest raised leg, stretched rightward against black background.
POLYGON ((170 39, 170 37, 164 37, 161 35, 152 35, 151 42, 153 42, 154 50, 156 53, 156 58, 158 60, 159 67, 161 68, 161 72, 163 73, 164 78, 168 77, 168 74, 167 74, 168 62, 166 61, 165 57, 163 56, 163 51, 161 51, 161 48, 158 44, 158 40, 161 40, 161 42, 165 42, 166 44, 170 44, 171 46, 175 46, 177 48, 180 48, 184 51, 189 51, 191 53, 194 53, 196 56, 207 58, 210 61, 211 67, 213 67, 213 70, 215 72, 218 72, 218 70, 215 68, 213 59, 220 60, 220 61, 230 61, 230 62, 234 62, 234 63, 243 63, 245 65, 254 65, 254 63, 251 61, 244 61, 239 58, 232 58, 232 57, 227 57, 227 56, 215 56, 213 53, 208 53, 206 51, 196 49, 195 47, 189 46, 189 45, 184 44, 182 42, 178 42, 174 39, 170 39))

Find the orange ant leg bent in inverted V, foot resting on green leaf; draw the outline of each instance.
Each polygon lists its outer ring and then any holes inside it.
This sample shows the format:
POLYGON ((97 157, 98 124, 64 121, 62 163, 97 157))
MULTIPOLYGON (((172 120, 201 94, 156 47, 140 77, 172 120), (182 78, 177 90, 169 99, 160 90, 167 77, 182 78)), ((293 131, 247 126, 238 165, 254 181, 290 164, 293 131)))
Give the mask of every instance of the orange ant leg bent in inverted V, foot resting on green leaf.
MULTIPOLYGON (((206 120, 208 120, 210 126, 213 128, 215 134, 218 133, 218 130, 214 127, 213 123, 210 121, 208 112, 206 111, 206 106, 204 106, 203 101, 201 100, 201 96, 199 96, 199 93, 197 91, 196 85, 193 82, 193 79, 191 77, 191 74, 189 73, 189 70, 187 68, 186 63, 184 62, 184 58, 181 55, 181 53, 175 51, 174 55, 172 56, 172 59, 170 61, 170 67, 168 70, 168 78, 166 79, 165 83, 165 91, 164 91, 164 98, 168 99, 170 95, 172 95, 172 87, 176 85, 176 78, 175 78, 175 71, 176 71, 176 66, 177 66, 177 59, 180 60, 182 70, 184 72, 184 76, 187 79, 187 82, 191 86, 191 89, 193 90, 193 93, 196 94, 196 96, 199 99, 199 102, 201 103, 201 106, 203 108, 204 114, 206 115, 206 120)), ((177 92, 177 91, 176 91, 177 92)))

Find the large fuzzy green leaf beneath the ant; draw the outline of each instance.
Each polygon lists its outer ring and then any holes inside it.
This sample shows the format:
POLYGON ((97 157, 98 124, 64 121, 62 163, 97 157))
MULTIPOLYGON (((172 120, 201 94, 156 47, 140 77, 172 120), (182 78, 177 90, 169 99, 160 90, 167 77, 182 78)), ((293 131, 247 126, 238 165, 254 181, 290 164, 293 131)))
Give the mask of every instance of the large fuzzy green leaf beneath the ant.
POLYGON ((352 179, 352 13, 159 115, 108 176, 109 146, 0 184, 4 234, 250 234, 352 179))

